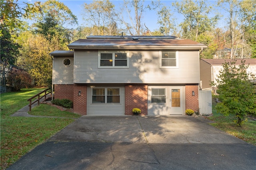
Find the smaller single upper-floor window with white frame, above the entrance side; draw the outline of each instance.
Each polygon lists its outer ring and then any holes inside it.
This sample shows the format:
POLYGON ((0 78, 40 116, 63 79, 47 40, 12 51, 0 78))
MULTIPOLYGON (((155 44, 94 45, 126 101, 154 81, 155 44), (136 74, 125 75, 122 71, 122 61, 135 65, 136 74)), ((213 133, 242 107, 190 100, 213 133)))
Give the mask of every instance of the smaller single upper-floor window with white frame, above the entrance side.
POLYGON ((178 51, 160 51, 160 67, 178 67, 178 51))

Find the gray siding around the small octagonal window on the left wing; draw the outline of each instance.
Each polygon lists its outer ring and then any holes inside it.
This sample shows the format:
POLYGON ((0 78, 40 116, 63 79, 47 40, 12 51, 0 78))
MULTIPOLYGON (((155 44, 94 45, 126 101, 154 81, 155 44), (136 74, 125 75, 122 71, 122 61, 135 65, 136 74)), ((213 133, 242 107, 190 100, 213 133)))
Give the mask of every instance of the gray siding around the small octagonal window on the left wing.
POLYGON ((53 63, 53 84, 74 84, 74 57, 54 57, 53 63), (65 66, 64 59, 70 59, 71 65, 65 66))

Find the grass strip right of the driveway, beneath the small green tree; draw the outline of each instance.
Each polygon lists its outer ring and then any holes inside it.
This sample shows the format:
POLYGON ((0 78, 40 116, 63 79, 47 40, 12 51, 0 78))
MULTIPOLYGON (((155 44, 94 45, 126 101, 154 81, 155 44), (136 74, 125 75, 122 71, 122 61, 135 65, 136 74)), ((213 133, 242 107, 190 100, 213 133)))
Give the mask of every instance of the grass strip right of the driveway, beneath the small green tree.
POLYGON ((254 146, 256 146, 256 121, 253 121, 250 117, 248 117, 248 121, 242 124, 242 127, 237 127, 234 120, 236 117, 224 116, 216 111, 216 102, 213 100, 212 102, 212 117, 207 117, 208 119, 215 121, 215 123, 211 123, 212 126, 225 131, 239 139, 246 141, 254 146))

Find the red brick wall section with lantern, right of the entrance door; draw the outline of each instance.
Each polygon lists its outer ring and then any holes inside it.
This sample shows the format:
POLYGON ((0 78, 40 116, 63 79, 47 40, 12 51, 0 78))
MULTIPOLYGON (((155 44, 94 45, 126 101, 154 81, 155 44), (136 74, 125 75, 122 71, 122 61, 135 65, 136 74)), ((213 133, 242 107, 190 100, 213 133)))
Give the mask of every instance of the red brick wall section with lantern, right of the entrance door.
POLYGON ((186 85, 186 109, 192 109, 197 111, 199 108, 198 103, 198 85, 186 85), (192 96, 192 91, 195 92, 195 96, 192 96))

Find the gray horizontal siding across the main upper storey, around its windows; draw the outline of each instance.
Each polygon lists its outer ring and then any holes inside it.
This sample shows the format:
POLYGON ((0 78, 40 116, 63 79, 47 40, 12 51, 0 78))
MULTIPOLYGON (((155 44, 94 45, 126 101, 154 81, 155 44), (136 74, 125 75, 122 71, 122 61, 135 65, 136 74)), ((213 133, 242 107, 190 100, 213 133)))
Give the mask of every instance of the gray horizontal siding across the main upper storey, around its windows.
POLYGON ((179 51, 178 68, 160 68, 159 51, 129 51, 129 68, 98 68, 98 51, 76 51, 74 83, 199 83, 198 51, 179 51))

